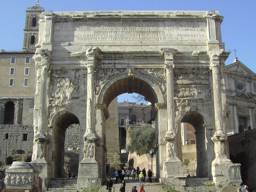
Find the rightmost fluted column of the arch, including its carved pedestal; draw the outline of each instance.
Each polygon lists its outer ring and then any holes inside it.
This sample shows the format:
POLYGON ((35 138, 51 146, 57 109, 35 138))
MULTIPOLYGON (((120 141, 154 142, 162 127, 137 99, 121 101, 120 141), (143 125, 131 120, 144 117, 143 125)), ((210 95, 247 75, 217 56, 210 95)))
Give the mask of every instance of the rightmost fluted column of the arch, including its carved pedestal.
MULTIPOLYGON (((221 50, 220 50, 221 51, 221 50)), ((223 50, 222 50, 223 51, 223 50)), ((226 140, 227 134, 225 133, 225 127, 223 124, 224 112, 223 104, 225 104, 225 98, 222 98, 222 87, 221 77, 223 77, 223 71, 221 70, 224 66, 221 63, 221 56, 223 52, 219 54, 210 55, 210 69, 212 71, 212 89, 214 94, 214 114, 215 114, 215 134, 211 137, 214 142, 215 159, 211 162, 211 174, 216 186, 220 183, 227 182, 229 176, 228 169, 232 165, 230 159, 226 155, 226 140)), ((225 54, 225 52, 224 52, 225 54)), ((226 183, 225 183, 226 184, 226 183)))

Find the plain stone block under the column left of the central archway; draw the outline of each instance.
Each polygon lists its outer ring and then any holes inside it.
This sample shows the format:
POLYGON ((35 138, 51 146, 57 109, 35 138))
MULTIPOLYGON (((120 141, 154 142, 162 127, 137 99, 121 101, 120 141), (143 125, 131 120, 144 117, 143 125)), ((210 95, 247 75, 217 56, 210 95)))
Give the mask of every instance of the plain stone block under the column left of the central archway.
POLYGON ((91 189, 101 186, 99 179, 99 166, 95 159, 83 159, 79 162, 77 188, 91 189))

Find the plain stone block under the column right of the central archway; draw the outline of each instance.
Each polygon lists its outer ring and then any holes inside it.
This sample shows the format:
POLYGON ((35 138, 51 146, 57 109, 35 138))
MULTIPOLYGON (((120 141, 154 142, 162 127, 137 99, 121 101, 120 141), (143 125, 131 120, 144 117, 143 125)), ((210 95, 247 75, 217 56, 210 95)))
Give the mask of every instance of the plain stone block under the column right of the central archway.
POLYGON ((168 159, 163 163, 163 177, 183 177, 184 168, 180 159, 168 159))

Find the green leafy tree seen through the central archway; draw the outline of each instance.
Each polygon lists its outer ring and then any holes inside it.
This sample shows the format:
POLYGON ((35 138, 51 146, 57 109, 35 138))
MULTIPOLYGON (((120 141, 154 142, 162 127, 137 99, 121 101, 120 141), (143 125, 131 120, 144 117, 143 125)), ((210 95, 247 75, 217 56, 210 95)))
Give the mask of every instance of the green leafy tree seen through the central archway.
POLYGON ((128 151, 137 151, 141 148, 150 150, 155 145, 155 128, 145 124, 141 129, 133 130, 129 137, 128 151))

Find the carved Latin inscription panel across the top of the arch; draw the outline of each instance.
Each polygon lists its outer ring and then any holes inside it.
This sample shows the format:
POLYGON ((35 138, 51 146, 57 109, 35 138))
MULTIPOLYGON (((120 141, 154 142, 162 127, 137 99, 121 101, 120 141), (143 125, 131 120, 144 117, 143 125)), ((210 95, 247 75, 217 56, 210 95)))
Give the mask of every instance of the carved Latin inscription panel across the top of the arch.
POLYGON ((57 22, 54 41, 207 40, 205 22, 57 22))

